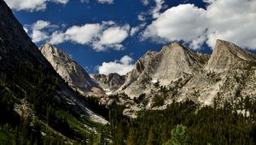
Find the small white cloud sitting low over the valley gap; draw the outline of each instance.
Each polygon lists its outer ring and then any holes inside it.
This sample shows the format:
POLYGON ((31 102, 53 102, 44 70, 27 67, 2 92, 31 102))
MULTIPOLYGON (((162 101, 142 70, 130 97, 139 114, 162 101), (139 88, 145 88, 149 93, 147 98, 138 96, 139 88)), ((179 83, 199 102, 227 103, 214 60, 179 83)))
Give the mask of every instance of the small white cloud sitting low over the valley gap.
POLYGON ((125 55, 119 61, 103 62, 102 66, 98 67, 100 74, 119 73, 119 75, 125 75, 131 72, 133 68, 133 59, 125 55))

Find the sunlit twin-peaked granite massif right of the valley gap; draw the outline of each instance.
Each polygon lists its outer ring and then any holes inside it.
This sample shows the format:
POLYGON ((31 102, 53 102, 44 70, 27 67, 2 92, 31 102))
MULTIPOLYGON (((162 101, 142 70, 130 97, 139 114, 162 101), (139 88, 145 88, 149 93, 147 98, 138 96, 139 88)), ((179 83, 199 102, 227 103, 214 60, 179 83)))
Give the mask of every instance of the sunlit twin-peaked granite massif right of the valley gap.
POLYGON ((132 118, 143 108, 165 109, 173 101, 191 100, 201 106, 218 102, 219 107, 231 102, 237 107, 246 97, 256 96, 255 55, 224 40, 217 40, 212 55, 177 43, 160 52, 148 51, 127 76, 115 93, 117 102, 125 104, 124 114, 132 118))

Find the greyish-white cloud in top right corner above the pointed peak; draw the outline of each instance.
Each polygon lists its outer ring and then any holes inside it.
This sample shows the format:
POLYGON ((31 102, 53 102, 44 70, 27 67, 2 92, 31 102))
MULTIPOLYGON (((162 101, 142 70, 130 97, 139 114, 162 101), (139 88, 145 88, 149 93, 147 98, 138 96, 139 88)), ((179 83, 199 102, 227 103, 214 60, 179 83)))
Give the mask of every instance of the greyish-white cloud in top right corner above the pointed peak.
POLYGON ((207 19, 207 44, 211 47, 220 38, 256 49, 256 1, 212 1, 207 7, 207 19))

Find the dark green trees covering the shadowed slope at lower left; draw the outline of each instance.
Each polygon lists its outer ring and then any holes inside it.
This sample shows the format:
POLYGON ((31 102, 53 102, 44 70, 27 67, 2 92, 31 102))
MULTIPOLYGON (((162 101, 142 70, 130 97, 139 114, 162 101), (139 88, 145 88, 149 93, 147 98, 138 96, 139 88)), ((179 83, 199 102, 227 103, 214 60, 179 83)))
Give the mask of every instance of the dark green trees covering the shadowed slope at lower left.
MULTIPOLYGON (((0 71, 1 144, 64 144, 71 139, 77 144, 96 142, 94 132, 87 131, 84 125, 96 129, 101 125, 56 101, 55 96, 61 88, 57 77, 49 68, 29 62, 20 62, 13 72, 0 71), (21 104, 21 99, 32 105, 36 119, 22 118, 15 113, 15 104, 21 104)), ((95 99, 84 100, 88 106, 97 108, 98 113, 108 116, 108 109, 95 99)))

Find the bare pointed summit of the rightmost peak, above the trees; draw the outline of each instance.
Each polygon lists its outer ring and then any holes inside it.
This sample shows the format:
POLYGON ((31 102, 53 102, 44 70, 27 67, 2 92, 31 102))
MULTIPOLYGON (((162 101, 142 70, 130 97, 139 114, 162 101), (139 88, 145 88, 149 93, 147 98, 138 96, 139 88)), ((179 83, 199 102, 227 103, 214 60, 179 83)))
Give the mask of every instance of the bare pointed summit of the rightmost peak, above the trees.
POLYGON ((218 39, 205 69, 221 73, 241 61, 255 61, 255 56, 236 44, 218 39))

